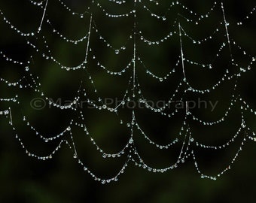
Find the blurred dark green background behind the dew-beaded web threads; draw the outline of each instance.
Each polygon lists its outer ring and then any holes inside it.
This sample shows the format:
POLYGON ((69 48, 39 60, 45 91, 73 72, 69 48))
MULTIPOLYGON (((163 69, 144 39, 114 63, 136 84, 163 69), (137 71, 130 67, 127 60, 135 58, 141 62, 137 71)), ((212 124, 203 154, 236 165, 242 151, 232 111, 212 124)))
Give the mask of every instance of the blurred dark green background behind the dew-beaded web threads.
MULTIPOLYGON (((74 11, 83 12, 84 8, 90 5, 90 1, 66 0, 74 11)), ((97 1, 96 1, 97 2, 97 1)), ((109 13, 120 13, 130 11, 133 3, 128 2, 124 5, 114 5, 105 0, 99 1, 109 13)), ((169 1, 161 1, 157 8, 152 2, 142 1, 148 5, 157 14, 163 14, 169 5, 169 1)), ((206 14, 212 7, 212 1, 181 1, 192 11, 198 14, 206 14)), ((254 1, 224 1, 230 38, 246 50, 250 56, 255 56, 255 14, 249 20, 243 21, 243 26, 236 26, 236 22, 242 20, 255 6, 254 1)), ((42 10, 29 4, 28 0, 2 0, 0 9, 5 17, 13 25, 24 32, 35 31, 41 20, 42 10)), ((93 19, 97 28, 114 47, 121 47, 123 41, 133 33, 134 18, 111 19, 105 17, 102 11, 95 6, 92 7, 93 19)), ((137 29, 142 30, 144 35, 151 40, 163 38, 166 33, 172 30, 173 20, 177 13, 184 17, 191 17, 187 11, 175 8, 166 14, 167 20, 162 22, 152 18, 147 11, 142 9, 141 4, 137 8, 137 29)), ((50 0, 47 8, 47 18, 53 25, 69 38, 81 38, 87 33, 90 16, 84 15, 83 19, 72 16, 70 12, 62 8, 57 0, 50 0)), ((191 17, 193 18, 193 17, 191 17)), ((194 38, 205 38, 212 34, 212 31, 223 22, 220 3, 212 12, 209 19, 203 21, 199 26, 192 23, 186 23, 182 17, 178 17, 181 26, 194 38)), ((178 27, 173 28, 178 32, 178 27)), ((20 37, 10 26, 0 20, 0 49, 8 56, 25 62, 32 54, 34 62, 30 67, 30 72, 38 76, 38 82, 41 88, 49 98, 56 100, 72 100, 83 80, 83 88, 87 90, 87 96, 97 100, 98 95, 92 91, 93 86, 88 80, 88 72, 93 77, 99 95, 102 98, 122 98, 123 92, 127 88, 127 83, 132 71, 128 71, 122 77, 109 76, 102 71, 96 62, 92 59, 93 54, 102 64, 113 71, 125 67, 133 57, 133 41, 127 43, 124 52, 115 55, 113 50, 106 48, 92 33, 90 47, 93 49, 88 55, 87 71, 63 71, 53 62, 42 59, 41 53, 35 53, 31 47, 26 45, 26 38, 20 37), (112 68, 111 68, 112 67, 112 68)), ((35 38, 27 38, 41 47, 45 51, 41 36, 45 35, 52 50, 53 56, 66 65, 77 65, 84 59, 87 41, 73 46, 52 35, 50 26, 43 23, 42 34, 35 38)), ((137 36, 137 53, 145 61, 145 65, 158 75, 164 75, 170 67, 175 65, 177 57, 180 55, 180 41, 177 36, 171 38, 161 46, 148 47, 139 41, 137 36)), ((230 65, 230 52, 224 50, 220 59, 214 59, 215 53, 222 42, 227 42, 224 26, 215 36, 214 41, 206 44, 205 47, 198 47, 186 38, 183 38, 184 54, 188 59, 197 62, 213 62, 213 69, 206 70, 194 65, 186 64, 187 79, 197 88, 205 89, 212 86, 221 78, 226 69, 237 73, 238 68, 230 65)), ((251 58, 243 56, 240 50, 231 46, 236 62, 239 67, 246 67, 251 58)), ((23 67, 12 65, 0 60, 0 77, 8 80, 18 80, 23 75, 29 82, 29 75, 23 67)), ((255 105, 255 71, 254 65, 251 71, 242 74, 239 78, 236 95, 240 94, 242 98, 256 109, 255 105)), ((174 92, 179 80, 182 78, 181 65, 176 68, 176 73, 169 77, 164 83, 159 83, 145 74, 145 69, 137 62, 136 71, 139 77, 139 83, 142 85, 142 91, 146 98, 153 101, 167 100, 174 92)), ((200 94, 178 94, 178 98, 197 99, 202 98, 219 101, 218 107, 212 113, 209 109, 194 110, 193 113, 203 120, 218 120, 226 111, 230 103, 230 97, 233 94, 234 80, 224 82, 215 91, 207 95, 200 94), (211 113, 211 114, 210 114, 211 113)), ((63 128, 69 125, 71 118, 75 120, 78 117, 73 111, 59 111, 56 108, 44 108, 41 111, 33 110, 29 102, 32 98, 40 97, 33 89, 18 89, 8 87, 5 83, 0 84, 0 97, 8 98, 18 94, 20 96, 20 105, 11 103, 14 125, 20 138, 23 139, 27 148, 38 155, 44 156, 56 147, 56 143, 45 144, 35 137, 26 123, 22 122, 24 115, 29 122, 42 132, 44 135, 56 135, 62 132, 63 128)), ((177 98, 177 99, 178 99, 177 98)), ((83 98, 84 99, 84 98, 83 98)), ((0 102, 0 111, 10 106, 7 102, 0 102)), ((129 140, 129 130, 120 126, 119 120, 115 114, 103 111, 88 110, 83 108, 87 128, 97 144, 109 153, 116 153, 121 150, 129 140)), ((123 108, 120 110, 120 118, 129 123, 131 120, 131 110, 123 108)), ((142 129, 149 137, 160 144, 169 143, 178 135, 178 129, 184 118, 184 111, 181 111, 173 119, 166 119, 157 114, 151 113, 145 109, 136 109, 136 118, 142 129)), ((219 145, 227 142, 233 137, 241 123, 241 111, 239 103, 234 105, 227 120, 217 126, 202 126, 197 122, 188 120, 193 137, 205 144, 219 145)), ((245 122, 253 130, 255 129, 255 117, 252 114, 245 113, 245 122)), ((75 129, 75 127, 74 127, 75 129)), ((124 159, 102 159, 95 147, 92 146, 88 138, 84 138, 83 132, 79 129, 74 130, 75 144, 78 146, 78 153, 82 154, 81 159, 88 167, 100 177, 113 177, 123 165, 124 159)), ((230 160, 236 153, 241 144, 245 132, 239 135, 234 144, 227 147, 226 150, 198 150, 194 145, 191 146, 198 156, 200 168, 206 174, 215 175, 229 165, 230 160)), ((173 150, 156 150, 155 147, 148 144, 139 132, 135 132, 136 147, 142 154, 145 161, 152 167, 161 168, 170 165, 175 160, 179 148, 173 150)), ((178 146, 180 147, 180 146, 178 146)), ((154 174, 137 168, 130 163, 126 172, 114 183, 102 185, 93 180, 83 168, 73 159, 73 152, 66 145, 47 161, 38 161, 32 157, 26 156, 24 150, 20 147, 18 141, 14 138, 14 132, 8 125, 5 117, 0 118, 0 202, 254 202, 255 190, 255 170, 254 159, 255 144, 252 141, 246 142, 242 153, 239 154, 231 170, 218 178, 216 181, 201 179, 194 168, 194 163, 190 159, 184 164, 179 165, 173 171, 164 174, 154 174)))

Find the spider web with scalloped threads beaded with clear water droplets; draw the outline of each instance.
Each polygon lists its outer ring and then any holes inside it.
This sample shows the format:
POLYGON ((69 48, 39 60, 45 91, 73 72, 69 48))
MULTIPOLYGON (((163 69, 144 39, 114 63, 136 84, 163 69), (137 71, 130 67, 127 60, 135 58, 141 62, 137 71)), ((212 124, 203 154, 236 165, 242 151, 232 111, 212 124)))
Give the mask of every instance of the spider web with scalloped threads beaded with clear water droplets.
MULTIPOLYGON (((248 125, 256 111, 239 89, 254 74, 254 49, 251 43, 245 50, 233 34, 250 27, 255 7, 229 23, 222 2, 212 2, 202 14, 169 1, 22 4, 21 14, 1 5, 0 114, 29 156, 52 159, 67 146, 101 183, 117 181, 131 163, 163 173, 187 160, 200 177, 216 180, 248 140, 256 141, 248 125), (25 12, 35 14, 26 25, 19 19, 25 12), (15 47, 5 43, 8 38, 15 47), (217 102, 218 111, 190 108, 189 101, 200 99, 217 102), (29 119, 35 115, 38 120, 29 119), (223 168, 213 175, 202 171, 203 162, 228 148, 232 155, 224 156, 223 168), (98 158, 91 161, 95 151, 98 158), (113 177, 98 175, 105 167, 99 156, 118 168, 113 177)), ((108 169, 103 171, 112 174, 108 169)))

